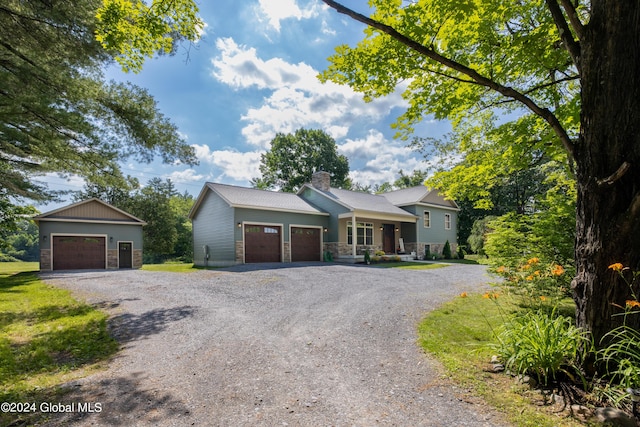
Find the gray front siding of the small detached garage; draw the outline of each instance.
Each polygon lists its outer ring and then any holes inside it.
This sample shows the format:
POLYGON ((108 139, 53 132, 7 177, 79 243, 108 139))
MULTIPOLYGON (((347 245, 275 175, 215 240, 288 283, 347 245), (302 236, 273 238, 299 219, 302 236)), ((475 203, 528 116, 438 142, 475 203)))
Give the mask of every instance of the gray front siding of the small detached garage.
POLYGON ((106 236, 107 249, 118 249, 118 241, 133 242, 133 249, 142 249, 142 225, 40 221, 40 246, 42 249, 49 249, 52 233, 106 236), (43 244, 45 236, 47 241, 43 244))

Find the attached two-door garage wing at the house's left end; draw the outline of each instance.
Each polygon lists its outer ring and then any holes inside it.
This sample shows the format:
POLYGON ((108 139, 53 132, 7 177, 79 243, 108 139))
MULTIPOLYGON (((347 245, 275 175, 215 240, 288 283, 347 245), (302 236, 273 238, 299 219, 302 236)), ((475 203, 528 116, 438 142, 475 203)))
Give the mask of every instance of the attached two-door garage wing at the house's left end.
POLYGON ((296 194, 211 182, 189 218, 193 262, 203 267, 321 261, 331 227, 329 213, 296 194))

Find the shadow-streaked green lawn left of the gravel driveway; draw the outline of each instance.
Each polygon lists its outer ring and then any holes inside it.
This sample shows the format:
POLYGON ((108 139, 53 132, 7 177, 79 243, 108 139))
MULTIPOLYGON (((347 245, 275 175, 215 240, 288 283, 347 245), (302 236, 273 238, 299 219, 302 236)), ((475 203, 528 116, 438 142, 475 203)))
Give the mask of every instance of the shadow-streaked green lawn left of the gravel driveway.
MULTIPOLYGON (((99 369, 117 352, 107 315, 34 273, 11 274, 33 270, 34 263, 0 268, 0 401, 57 401, 59 385, 99 369)), ((36 421, 30 417, 0 413, 0 425, 29 425, 36 421)))

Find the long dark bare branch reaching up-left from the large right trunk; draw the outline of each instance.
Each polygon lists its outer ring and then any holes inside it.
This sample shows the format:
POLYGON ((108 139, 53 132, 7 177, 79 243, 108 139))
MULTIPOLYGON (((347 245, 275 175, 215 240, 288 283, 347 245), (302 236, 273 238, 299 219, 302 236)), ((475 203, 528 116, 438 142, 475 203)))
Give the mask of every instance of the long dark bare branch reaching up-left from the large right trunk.
MULTIPOLYGON (((427 58, 430 58, 444 65, 445 67, 451 68, 452 70, 458 71, 459 73, 466 75, 467 77, 471 78, 476 84, 485 86, 491 90, 494 90, 500 93, 501 95, 507 98, 520 102, 521 104, 526 106, 529 110, 531 110, 534 114, 544 119, 551 126, 555 134, 558 136, 558 138, 562 142, 562 145, 565 148, 565 150, 567 150, 570 157, 573 157, 574 143, 569 137, 569 135, 567 134, 562 124, 560 123, 560 121, 558 120, 558 118, 555 116, 555 114, 553 114, 553 112, 551 112, 549 109, 539 106, 525 94, 513 89, 512 87, 501 85, 498 82, 481 75, 473 68, 467 67, 463 64, 460 64, 459 62, 456 62, 450 58, 440 55, 435 50, 430 49, 427 46, 424 46, 423 44, 405 36, 404 34, 398 32, 395 28, 389 25, 383 24, 379 21, 371 19, 358 12, 355 12, 333 0, 322 0, 322 1, 327 6, 331 7, 332 9, 335 9, 338 13, 347 15, 358 22, 361 22, 372 28, 380 30, 383 33, 391 36, 393 39, 397 40, 398 42, 402 43, 403 45, 420 53, 421 55, 424 55, 427 58)), ((555 2, 556 0, 549 0, 549 1, 555 2)))

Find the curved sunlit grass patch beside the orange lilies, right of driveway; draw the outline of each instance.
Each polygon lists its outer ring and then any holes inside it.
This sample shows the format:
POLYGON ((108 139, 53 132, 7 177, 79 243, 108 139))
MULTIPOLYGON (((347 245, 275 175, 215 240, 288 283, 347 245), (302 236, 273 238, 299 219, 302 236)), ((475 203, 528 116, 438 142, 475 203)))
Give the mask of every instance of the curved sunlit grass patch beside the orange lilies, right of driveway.
POLYGON ((418 329, 419 343, 445 366, 447 375, 503 412, 519 427, 580 426, 540 405, 537 394, 505 374, 487 372, 494 331, 517 309, 502 296, 462 295, 427 315, 418 329))

